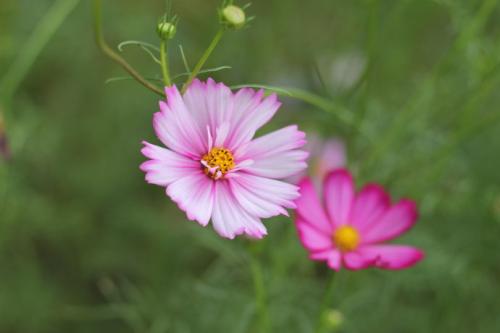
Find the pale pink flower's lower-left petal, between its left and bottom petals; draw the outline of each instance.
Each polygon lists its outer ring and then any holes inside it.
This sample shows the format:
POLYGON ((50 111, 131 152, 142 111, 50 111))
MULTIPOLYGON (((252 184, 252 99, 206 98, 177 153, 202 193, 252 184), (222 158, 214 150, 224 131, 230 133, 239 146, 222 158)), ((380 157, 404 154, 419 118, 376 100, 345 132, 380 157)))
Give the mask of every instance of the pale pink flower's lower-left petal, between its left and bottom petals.
POLYGON ((206 226, 212 215, 215 200, 214 181, 200 172, 173 182, 167 195, 186 212, 188 219, 206 226))

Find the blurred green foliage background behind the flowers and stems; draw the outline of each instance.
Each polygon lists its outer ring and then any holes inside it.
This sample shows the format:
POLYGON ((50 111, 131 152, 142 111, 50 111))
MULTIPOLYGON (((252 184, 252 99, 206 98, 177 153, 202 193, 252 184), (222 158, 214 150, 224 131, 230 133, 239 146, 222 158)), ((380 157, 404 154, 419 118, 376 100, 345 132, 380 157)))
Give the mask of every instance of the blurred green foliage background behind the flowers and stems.
MULTIPOLYGON (((143 181, 140 142, 157 142, 158 98, 133 81, 105 84, 124 73, 94 44, 91 2, 54 12, 62 2, 0 2, 10 150, 0 162, 0 332, 257 332, 248 241, 187 221, 143 181)), ((191 64, 208 45, 219 4, 173 1, 174 72, 178 44, 191 64)), ((164 5, 105 1, 110 44, 158 43, 164 5)), ((284 98, 264 132, 294 122, 340 137, 358 186, 377 181, 419 203, 401 242, 426 260, 342 272, 339 331, 499 332, 498 1, 256 0, 248 12, 251 27, 227 33, 208 64, 232 69, 213 76, 327 98, 348 117, 284 98)), ((123 55, 159 75, 140 49, 123 55)), ((307 259, 290 220, 266 225, 254 247, 273 331, 310 332, 328 272, 307 259)))

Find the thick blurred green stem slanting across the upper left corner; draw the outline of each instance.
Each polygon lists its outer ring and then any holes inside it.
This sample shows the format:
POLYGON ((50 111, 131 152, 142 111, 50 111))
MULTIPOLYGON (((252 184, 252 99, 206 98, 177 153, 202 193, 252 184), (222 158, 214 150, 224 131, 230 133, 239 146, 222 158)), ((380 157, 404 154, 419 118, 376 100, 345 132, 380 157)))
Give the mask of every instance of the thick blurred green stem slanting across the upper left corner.
POLYGON ((18 52, 14 63, 8 67, 7 73, 0 81, 1 97, 5 99, 6 104, 28 74, 40 52, 78 3, 79 0, 54 2, 37 24, 22 50, 18 52))

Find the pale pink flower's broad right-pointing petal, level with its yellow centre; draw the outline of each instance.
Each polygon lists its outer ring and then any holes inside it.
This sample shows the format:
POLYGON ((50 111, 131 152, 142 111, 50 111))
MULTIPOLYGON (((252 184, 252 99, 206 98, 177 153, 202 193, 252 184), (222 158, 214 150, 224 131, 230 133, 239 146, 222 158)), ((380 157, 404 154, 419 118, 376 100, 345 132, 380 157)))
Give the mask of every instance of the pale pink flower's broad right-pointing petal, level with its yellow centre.
POLYGON ((269 133, 240 147, 235 157, 252 159, 245 170, 254 175, 282 179, 307 168, 308 153, 296 150, 306 143, 305 133, 297 126, 288 126, 269 133))

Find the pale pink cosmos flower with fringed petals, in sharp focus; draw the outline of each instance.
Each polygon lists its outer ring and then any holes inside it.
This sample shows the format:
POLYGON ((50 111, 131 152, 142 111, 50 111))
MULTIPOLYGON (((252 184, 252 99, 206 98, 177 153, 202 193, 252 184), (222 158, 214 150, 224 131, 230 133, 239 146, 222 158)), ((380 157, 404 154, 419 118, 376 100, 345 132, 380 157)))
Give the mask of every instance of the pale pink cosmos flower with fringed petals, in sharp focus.
POLYGON ((195 80, 183 96, 175 86, 165 92, 153 125, 167 148, 144 142, 146 181, 165 187, 190 220, 212 220, 223 237, 262 238, 261 218, 295 208, 298 187, 280 179, 307 167, 298 150, 305 134, 289 126, 253 139, 281 105, 263 90, 233 93, 209 79, 195 80))

